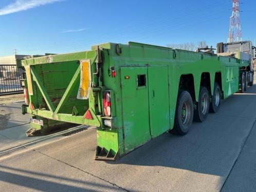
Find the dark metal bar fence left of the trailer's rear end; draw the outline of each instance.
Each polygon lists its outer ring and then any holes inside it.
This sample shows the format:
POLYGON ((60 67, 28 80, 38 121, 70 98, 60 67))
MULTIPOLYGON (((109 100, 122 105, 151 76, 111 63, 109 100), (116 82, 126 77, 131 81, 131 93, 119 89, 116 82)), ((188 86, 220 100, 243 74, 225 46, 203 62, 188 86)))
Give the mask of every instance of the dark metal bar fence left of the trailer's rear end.
POLYGON ((23 92, 22 73, 16 65, 0 65, 0 95, 23 92))

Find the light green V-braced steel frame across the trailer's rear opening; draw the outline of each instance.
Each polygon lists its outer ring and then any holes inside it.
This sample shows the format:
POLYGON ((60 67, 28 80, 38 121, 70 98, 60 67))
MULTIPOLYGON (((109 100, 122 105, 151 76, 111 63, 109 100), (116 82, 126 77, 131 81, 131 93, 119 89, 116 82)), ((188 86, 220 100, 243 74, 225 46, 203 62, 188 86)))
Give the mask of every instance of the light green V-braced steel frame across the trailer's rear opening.
MULTIPOLYGON (((53 60, 53 57, 56 57, 58 59, 56 61, 58 61, 58 62, 63 62, 63 59, 65 59, 65 57, 63 58, 63 56, 61 58, 58 58, 58 55, 50 55, 48 57, 37 57, 34 59, 30 59, 30 60, 24 60, 22 62, 23 66, 30 65, 31 77, 33 78, 33 81, 35 81, 37 87, 39 88, 39 90, 47 104, 47 107, 49 108, 49 110, 31 109, 29 106, 23 106, 23 108, 22 108, 23 113, 30 113, 33 116, 40 116, 43 118, 57 120, 57 121, 100 127, 101 126, 101 117, 96 115, 96 112, 94 109, 95 98, 94 98, 94 94, 93 94, 93 92, 94 92, 93 88, 90 88, 90 91, 89 91, 89 110, 92 115, 92 120, 85 119, 84 116, 76 116, 76 114, 59 113, 62 106, 68 100, 68 97, 69 97, 71 91, 74 89, 75 84, 80 80, 80 66, 77 68, 74 76, 72 77, 70 83, 68 84, 68 87, 65 90, 58 106, 56 108, 54 107, 53 103, 51 102, 51 100, 49 98, 49 95, 48 95, 46 89, 44 88, 43 82, 41 81, 39 75, 36 73, 36 71, 34 69, 34 65, 36 65, 36 63, 38 63, 38 64, 42 64, 42 62, 49 63, 49 61, 53 60), (32 62, 29 62, 29 61, 32 61, 32 62)), ((72 56, 71 56, 71 58, 72 58, 72 56)), ((80 56, 80 58, 84 59, 81 56, 80 56)), ((77 57, 76 57, 76 59, 77 59, 77 57)), ((95 61, 95 59, 96 59, 96 55, 94 55, 93 61, 95 61)), ((72 61, 72 60, 70 60, 70 57, 67 57, 65 59, 65 61, 72 61)), ((75 61, 77 61, 77 60, 75 60, 75 61)), ((101 90, 97 90, 97 91, 101 91, 101 90)), ((29 98, 30 98, 30 102, 32 102, 32 100, 34 99, 34 98, 32 98, 32 95, 29 95, 29 98)))

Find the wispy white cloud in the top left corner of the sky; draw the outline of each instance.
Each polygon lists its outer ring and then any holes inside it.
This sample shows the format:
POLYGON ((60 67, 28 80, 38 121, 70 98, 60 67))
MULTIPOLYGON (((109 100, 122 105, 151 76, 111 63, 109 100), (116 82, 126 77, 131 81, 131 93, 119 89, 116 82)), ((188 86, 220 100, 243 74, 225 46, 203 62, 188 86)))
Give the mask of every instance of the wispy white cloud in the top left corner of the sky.
POLYGON ((0 15, 7 15, 19 11, 25 11, 35 7, 65 0, 15 0, 13 3, 0 9, 0 15))

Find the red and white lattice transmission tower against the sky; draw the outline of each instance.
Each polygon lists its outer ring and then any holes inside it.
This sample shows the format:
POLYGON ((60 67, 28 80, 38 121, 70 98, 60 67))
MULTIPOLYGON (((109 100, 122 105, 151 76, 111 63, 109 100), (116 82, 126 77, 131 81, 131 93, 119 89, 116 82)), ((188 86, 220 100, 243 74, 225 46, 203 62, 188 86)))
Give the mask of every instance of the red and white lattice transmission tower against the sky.
POLYGON ((242 30, 240 24, 240 9, 239 9, 239 0, 232 0, 232 16, 230 17, 230 27, 229 27, 229 36, 228 43, 240 42, 242 41, 242 30))

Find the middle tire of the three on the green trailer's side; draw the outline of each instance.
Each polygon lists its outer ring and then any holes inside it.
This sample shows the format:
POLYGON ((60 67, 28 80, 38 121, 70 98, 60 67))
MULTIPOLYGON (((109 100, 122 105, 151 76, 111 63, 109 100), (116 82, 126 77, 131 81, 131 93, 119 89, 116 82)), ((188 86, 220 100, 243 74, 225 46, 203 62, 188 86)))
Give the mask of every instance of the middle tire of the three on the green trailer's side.
POLYGON ((201 87, 199 92, 198 103, 194 111, 194 121, 204 122, 208 116, 210 109, 210 95, 206 87, 201 87), (205 108, 203 109, 203 100, 205 100, 205 108))

